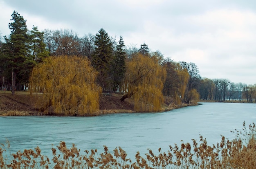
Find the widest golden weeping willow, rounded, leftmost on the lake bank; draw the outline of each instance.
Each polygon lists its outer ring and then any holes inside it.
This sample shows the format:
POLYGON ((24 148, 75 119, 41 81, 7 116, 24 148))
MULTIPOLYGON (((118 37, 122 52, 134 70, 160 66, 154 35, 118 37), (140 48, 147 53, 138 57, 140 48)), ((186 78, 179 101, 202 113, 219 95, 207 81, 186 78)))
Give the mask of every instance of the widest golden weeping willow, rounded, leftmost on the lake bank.
POLYGON ((36 94, 38 110, 47 111, 52 106, 54 113, 68 116, 99 110, 102 89, 95 83, 97 74, 88 59, 76 56, 45 59, 30 77, 31 92, 43 93, 36 94))

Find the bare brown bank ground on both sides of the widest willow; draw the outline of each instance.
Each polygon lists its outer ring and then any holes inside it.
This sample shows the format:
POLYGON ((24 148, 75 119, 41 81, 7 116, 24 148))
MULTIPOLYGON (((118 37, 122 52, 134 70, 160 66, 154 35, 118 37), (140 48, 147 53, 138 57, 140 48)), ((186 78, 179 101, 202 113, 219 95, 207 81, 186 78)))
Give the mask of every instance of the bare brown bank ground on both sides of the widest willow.
MULTIPOLYGON (((102 94, 100 97, 100 112, 133 112, 134 104, 131 99, 120 101, 122 94, 102 94)), ((5 113, 13 115, 41 114, 36 112, 36 100, 31 98, 29 92, 19 91, 14 95, 11 92, 0 91, 0 115, 5 113)))

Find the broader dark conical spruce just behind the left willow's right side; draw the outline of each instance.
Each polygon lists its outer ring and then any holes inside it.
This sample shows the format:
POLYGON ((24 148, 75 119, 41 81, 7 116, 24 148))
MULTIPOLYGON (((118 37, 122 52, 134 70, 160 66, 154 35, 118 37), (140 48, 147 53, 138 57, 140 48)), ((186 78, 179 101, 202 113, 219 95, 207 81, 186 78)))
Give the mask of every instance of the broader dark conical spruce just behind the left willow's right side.
POLYGON ((97 79, 98 84, 103 90, 110 89, 110 72, 113 59, 113 43, 104 29, 100 29, 95 36, 94 42, 96 48, 92 56, 92 65, 99 72, 97 79))

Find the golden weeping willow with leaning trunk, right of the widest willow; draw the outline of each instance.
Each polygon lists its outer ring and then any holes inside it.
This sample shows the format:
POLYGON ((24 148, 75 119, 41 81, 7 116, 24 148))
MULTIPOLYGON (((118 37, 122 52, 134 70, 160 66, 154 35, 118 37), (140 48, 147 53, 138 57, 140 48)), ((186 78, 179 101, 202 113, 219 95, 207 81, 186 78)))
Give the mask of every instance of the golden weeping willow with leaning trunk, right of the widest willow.
POLYGON ((136 111, 159 111, 163 99, 162 89, 166 70, 153 57, 137 53, 126 64, 126 74, 122 85, 126 94, 124 101, 132 97, 136 111))

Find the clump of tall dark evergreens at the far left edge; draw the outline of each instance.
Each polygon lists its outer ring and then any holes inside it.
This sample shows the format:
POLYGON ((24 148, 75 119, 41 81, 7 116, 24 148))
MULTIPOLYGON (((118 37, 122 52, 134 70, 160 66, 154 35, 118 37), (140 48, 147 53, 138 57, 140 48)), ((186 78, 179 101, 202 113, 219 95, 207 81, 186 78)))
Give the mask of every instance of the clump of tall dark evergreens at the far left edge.
MULTIPOLYGON (((43 43, 43 32, 36 26, 27 29, 26 20, 16 11, 11 15, 10 35, 4 36, 0 65, 2 79, 10 84, 12 94, 15 90, 24 90, 29 84, 29 76, 36 63, 48 56, 43 43), (10 82, 11 81, 11 82, 10 82)), ((2 83, 3 84, 3 83, 2 83)), ((3 85, 2 85, 3 88, 3 85)), ((9 87, 10 88, 10 87, 9 87)))

